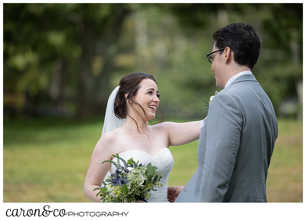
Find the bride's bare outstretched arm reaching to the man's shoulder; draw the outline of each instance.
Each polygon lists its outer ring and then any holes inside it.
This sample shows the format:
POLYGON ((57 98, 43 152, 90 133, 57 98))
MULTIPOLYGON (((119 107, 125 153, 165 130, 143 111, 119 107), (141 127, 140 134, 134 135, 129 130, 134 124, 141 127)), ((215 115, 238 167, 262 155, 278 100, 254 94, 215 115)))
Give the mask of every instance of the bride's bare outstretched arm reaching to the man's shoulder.
POLYGON ((169 146, 179 146, 190 143, 200 137, 200 121, 186 123, 163 122, 162 130, 168 134, 169 146))

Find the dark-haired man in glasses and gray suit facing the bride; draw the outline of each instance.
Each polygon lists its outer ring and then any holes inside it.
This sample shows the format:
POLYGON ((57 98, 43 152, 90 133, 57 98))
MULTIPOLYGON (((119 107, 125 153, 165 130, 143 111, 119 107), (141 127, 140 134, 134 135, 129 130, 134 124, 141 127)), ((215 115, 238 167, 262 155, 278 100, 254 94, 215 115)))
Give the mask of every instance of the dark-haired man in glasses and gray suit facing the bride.
POLYGON ((216 86, 201 128, 198 168, 185 187, 168 187, 170 202, 267 202, 266 180, 277 121, 251 70, 260 53, 255 29, 233 23, 215 31, 207 55, 216 86))

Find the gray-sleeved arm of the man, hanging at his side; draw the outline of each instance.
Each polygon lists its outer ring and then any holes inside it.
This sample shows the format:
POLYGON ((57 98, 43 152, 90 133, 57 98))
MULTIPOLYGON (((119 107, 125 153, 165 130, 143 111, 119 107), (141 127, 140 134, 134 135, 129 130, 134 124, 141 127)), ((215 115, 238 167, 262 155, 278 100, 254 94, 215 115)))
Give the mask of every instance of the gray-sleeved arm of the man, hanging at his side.
POLYGON ((206 151, 198 202, 222 202, 233 173, 242 132, 242 115, 226 93, 215 96, 209 107, 206 151))

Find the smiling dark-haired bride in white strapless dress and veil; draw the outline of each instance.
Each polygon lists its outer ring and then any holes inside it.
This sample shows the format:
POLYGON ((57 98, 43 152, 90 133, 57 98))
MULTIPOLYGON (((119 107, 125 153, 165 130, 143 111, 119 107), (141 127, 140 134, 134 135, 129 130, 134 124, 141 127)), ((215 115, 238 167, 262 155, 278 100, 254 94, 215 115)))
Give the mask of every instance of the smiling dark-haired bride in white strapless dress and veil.
MULTIPOLYGON (((183 100, 181 101, 184 104, 183 100)), ((93 150, 86 179, 84 195, 93 202, 108 171, 113 164, 103 163, 113 160, 113 154, 125 160, 133 157, 142 164, 152 163, 162 172, 163 184, 158 191, 152 191, 148 202, 168 202, 167 183, 174 160, 169 146, 184 145, 199 139, 200 121, 187 123, 162 122, 148 126, 148 121, 160 114, 157 81, 151 74, 133 72, 124 76, 119 86, 110 95, 102 137, 93 150)), ((162 120, 161 120, 162 121, 162 120)), ((137 201, 144 202, 144 201, 137 201)))

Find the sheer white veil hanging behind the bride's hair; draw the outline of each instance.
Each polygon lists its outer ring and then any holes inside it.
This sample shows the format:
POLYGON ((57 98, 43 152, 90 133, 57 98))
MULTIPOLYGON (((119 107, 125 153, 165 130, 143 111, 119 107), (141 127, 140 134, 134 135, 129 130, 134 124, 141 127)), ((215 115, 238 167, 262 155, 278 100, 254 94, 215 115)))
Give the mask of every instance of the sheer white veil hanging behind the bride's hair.
POLYGON ((110 97, 108 98, 102 135, 108 131, 113 131, 116 128, 121 127, 125 123, 126 119, 119 119, 118 117, 115 116, 114 112, 114 101, 118 90, 119 86, 113 90, 113 92, 110 94, 110 97))

